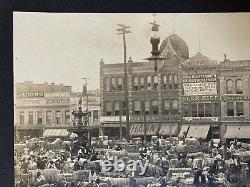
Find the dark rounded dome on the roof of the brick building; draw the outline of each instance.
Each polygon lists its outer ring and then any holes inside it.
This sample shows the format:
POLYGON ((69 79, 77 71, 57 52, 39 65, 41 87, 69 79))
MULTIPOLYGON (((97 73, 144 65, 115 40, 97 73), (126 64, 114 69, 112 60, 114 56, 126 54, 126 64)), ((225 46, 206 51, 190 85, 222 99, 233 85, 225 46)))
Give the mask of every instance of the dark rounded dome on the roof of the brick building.
POLYGON ((177 55, 187 60, 189 58, 189 50, 187 43, 177 34, 171 34, 161 43, 160 52, 162 56, 177 55))

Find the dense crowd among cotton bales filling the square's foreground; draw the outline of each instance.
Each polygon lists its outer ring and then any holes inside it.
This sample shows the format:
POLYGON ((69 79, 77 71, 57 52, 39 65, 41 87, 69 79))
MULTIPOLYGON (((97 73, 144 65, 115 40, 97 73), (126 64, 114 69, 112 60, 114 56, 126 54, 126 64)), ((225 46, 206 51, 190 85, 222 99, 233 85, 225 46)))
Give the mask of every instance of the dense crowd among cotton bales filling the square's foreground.
POLYGON ((103 148, 89 143, 82 146, 77 140, 64 144, 63 140, 56 141, 57 147, 48 146, 52 143, 38 138, 17 144, 23 147, 15 149, 16 186, 244 186, 250 176, 248 148, 237 139, 215 143, 192 137, 160 137, 147 144, 124 143, 125 140, 119 144, 114 140, 113 145, 103 148), (135 149, 131 151, 129 147, 135 149), (104 174, 100 161, 112 160, 110 153, 114 152, 119 158, 148 161, 145 175, 139 176, 139 171, 104 174), (53 172, 48 174, 49 170, 53 172))

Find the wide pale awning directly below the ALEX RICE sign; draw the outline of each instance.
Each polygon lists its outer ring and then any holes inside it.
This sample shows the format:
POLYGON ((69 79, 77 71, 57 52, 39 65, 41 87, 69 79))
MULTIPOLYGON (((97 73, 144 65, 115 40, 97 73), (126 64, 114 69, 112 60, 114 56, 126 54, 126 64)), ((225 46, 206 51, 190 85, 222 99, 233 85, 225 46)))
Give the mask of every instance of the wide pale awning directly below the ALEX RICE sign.
POLYGON ((206 139, 210 125, 190 125, 187 138, 201 138, 206 139))

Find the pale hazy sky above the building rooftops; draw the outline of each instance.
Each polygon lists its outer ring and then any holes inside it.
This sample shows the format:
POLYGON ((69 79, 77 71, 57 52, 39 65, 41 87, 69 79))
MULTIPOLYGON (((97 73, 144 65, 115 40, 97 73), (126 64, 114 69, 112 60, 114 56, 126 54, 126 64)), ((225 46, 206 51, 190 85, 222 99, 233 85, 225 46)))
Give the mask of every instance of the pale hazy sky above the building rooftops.
POLYGON ((86 77, 88 89, 99 89, 100 60, 123 62, 117 24, 131 26, 132 33, 126 35, 127 57, 142 62, 151 56, 150 22, 154 19, 160 25, 161 41, 170 34, 179 35, 190 57, 199 51, 200 42, 201 53, 213 60, 222 61, 225 53, 230 60, 250 59, 250 13, 14 12, 14 80, 63 83, 80 91, 86 77))

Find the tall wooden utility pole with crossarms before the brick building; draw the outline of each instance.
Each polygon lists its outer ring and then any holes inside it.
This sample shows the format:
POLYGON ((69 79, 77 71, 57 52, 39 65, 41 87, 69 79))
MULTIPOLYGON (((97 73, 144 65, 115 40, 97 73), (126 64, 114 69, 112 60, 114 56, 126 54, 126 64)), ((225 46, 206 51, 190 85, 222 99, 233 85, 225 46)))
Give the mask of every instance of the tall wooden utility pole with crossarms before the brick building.
POLYGON ((130 134, 129 134, 129 96, 128 96, 128 75, 127 75, 127 48, 126 48, 126 34, 131 33, 128 29, 131 28, 130 26, 126 26, 124 24, 118 24, 118 34, 122 35, 123 38, 123 54, 124 54, 124 88, 125 88, 125 108, 126 108, 126 138, 129 141, 130 140, 130 134))

